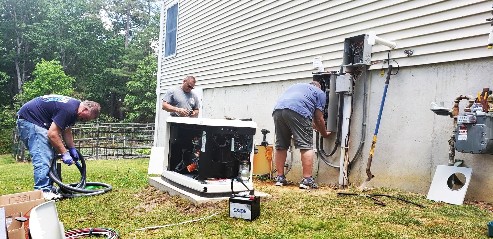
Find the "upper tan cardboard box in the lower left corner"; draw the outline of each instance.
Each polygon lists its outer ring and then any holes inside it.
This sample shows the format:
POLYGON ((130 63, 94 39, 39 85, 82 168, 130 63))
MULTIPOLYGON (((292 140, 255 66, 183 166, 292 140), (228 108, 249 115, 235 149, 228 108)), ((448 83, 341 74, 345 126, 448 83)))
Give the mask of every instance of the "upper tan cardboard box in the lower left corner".
POLYGON ((29 217, 31 209, 42 203, 44 203, 42 190, 0 196, 0 208, 5 208, 5 215, 22 212, 29 217))

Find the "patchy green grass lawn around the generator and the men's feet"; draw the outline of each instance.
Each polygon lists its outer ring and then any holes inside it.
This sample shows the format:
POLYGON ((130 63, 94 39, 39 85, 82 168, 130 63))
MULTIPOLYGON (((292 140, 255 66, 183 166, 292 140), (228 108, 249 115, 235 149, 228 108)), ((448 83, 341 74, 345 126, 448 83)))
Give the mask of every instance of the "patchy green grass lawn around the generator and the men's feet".
MULTIPOLYGON (((486 239, 486 224, 493 220, 492 212, 472 205, 434 203, 423 195, 398 189, 376 188, 370 193, 399 196, 427 208, 380 198, 387 205, 382 207, 360 196, 337 196, 337 191, 323 186, 307 192, 293 184, 274 187, 272 182, 257 182, 256 190, 271 194, 272 199, 262 199, 260 217, 249 222, 230 218, 226 201, 194 206, 149 186, 134 171, 130 171, 128 180, 121 186, 130 167, 147 178, 147 165, 148 159, 88 161, 88 181, 109 183, 113 190, 99 196, 57 202, 65 230, 109 227, 122 239, 486 239), (215 212, 220 214, 197 222, 135 231, 215 212)), ((0 155, 0 194, 32 190, 32 169, 30 163, 15 163, 8 154, 0 155)), ((75 167, 63 165, 62 169, 64 181, 78 181, 75 167)))

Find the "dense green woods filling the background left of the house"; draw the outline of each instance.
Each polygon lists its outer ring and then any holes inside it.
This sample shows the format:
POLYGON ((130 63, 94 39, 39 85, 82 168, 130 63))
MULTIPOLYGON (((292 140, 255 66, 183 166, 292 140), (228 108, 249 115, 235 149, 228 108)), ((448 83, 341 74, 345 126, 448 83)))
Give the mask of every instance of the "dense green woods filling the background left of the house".
POLYGON ((0 106, 18 109, 36 96, 60 93, 97 101, 112 121, 153 121, 147 109, 155 102, 147 98, 154 97, 155 88, 137 95, 127 82, 145 81, 142 61, 156 61, 159 5, 147 0, 0 0, 0 106))

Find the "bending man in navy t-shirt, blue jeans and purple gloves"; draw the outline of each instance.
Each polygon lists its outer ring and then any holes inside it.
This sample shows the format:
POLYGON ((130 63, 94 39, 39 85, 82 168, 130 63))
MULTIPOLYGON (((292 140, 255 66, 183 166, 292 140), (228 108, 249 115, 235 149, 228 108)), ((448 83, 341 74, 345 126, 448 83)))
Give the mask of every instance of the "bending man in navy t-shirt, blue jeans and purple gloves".
POLYGON ((44 198, 59 198, 51 191, 53 182, 48 177, 54 149, 69 166, 79 155, 73 144, 72 126, 77 119, 94 120, 101 107, 94 101, 83 101, 69 96, 49 94, 36 97, 24 104, 17 113, 17 130, 29 150, 34 166, 34 189, 43 190, 44 198), (59 135, 69 148, 65 149, 59 135))

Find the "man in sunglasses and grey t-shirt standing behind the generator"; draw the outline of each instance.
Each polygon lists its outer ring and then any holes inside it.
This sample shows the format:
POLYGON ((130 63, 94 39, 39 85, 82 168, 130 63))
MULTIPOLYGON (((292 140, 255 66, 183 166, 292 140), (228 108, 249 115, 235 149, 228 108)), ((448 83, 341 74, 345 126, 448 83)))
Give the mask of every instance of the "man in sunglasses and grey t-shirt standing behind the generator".
POLYGON ((195 88, 195 78, 187 76, 183 84, 170 88, 163 97, 162 109, 170 116, 197 117, 199 115, 199 98, 191 92, 195 88))

